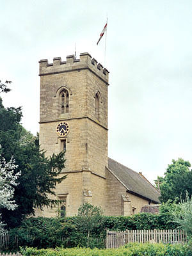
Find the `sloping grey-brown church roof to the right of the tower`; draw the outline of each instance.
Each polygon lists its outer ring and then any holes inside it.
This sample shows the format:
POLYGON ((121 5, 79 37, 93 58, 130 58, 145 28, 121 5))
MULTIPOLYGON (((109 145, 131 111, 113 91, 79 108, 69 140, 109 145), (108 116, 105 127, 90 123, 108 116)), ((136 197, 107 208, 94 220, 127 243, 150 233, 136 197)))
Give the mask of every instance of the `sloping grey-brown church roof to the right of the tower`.
POLYGON ((109 171, 115 175, 124 186, 127 192, 141 196, 154 203, 159 203, 160 193, 156 188, 142 175, 142 173, 134 172, 123 164, 116 162, 108 157, 109 171))

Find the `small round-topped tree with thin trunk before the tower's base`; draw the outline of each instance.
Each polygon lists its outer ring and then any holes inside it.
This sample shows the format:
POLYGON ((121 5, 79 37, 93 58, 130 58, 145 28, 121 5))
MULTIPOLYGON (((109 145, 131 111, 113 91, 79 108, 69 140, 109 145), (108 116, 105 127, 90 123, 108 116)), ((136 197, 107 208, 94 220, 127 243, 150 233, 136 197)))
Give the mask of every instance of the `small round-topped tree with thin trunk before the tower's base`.
POLYGON ((77 225, 83 228, 83 233, 87 236, 86 246, 90 246, 90 238, 102 221, 103 211, 101 207, 89 203, 81 205, 78 209, 77 225))

